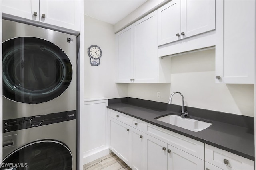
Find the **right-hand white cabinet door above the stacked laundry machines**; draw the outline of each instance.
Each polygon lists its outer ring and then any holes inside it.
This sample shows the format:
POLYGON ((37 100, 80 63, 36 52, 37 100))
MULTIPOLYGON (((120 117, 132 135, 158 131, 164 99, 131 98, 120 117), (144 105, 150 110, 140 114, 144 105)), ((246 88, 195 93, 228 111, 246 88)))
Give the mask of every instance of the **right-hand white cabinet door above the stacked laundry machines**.
POLYGON ((40 21, 79 31, 80 1, 40 0, 40 21))

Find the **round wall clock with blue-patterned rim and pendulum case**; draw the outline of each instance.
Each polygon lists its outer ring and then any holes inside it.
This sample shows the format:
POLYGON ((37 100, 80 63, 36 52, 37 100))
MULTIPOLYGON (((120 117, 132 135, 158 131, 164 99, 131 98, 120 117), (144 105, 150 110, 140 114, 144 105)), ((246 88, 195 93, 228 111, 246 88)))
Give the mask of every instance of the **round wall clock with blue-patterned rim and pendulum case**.
POLYGON ((90 64, 92 66, 100 65, 100 57, 102 55, 102 51, 98 45, 91 45, 88 48, 88 55, 90 57, 90 64))

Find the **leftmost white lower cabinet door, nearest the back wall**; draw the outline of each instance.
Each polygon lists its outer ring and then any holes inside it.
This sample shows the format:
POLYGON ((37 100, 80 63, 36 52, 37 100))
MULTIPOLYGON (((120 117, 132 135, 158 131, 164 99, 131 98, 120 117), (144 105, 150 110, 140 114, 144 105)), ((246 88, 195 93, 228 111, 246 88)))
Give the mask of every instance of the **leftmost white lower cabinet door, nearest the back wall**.
POLYGON ((109 148, 130 166, 130 126, 116 119, 109 119, 109 148))

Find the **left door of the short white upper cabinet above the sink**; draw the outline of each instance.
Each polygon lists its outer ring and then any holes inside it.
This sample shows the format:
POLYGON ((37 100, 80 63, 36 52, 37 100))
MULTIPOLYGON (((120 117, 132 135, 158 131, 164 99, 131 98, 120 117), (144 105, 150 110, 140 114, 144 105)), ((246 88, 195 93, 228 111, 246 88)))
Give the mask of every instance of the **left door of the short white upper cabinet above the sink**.
POLYGON ((180 39, 180 0, 172 0, 158 9, 158 45, 180 39))

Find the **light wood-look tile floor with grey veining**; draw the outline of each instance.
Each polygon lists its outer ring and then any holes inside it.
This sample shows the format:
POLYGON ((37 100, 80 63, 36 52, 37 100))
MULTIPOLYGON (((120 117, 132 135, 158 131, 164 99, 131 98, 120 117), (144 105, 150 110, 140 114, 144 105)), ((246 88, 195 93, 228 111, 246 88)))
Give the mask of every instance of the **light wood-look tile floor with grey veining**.
POLYGON ((132 170, 116 154, 110 153, 107 156, 94 160, 84 165, 83 170, 132 170))

